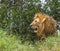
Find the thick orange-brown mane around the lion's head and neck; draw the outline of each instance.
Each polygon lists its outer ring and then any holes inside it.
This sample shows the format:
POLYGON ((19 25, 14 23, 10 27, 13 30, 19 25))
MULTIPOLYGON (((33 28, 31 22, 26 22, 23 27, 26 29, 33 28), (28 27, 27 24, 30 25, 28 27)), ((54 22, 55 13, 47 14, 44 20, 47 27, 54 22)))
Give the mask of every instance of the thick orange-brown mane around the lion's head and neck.
POLYGON ((39 18, 40 24, 37 35, 40 37, 45 37, 52 35, 57 30, 57 22, 52 17, 44 13, 36 13, 34 19, 39 18))

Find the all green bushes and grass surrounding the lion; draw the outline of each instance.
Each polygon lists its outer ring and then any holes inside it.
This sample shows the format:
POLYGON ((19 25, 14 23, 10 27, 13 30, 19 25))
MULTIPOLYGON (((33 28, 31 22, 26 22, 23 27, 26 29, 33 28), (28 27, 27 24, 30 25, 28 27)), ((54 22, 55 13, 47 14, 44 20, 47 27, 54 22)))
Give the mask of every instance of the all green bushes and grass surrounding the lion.
POLYGON ((0 51, 60 51, 59 36, 42 43, 32 33, 37 12, 60 21, 60 0, 0 0, 0 51))

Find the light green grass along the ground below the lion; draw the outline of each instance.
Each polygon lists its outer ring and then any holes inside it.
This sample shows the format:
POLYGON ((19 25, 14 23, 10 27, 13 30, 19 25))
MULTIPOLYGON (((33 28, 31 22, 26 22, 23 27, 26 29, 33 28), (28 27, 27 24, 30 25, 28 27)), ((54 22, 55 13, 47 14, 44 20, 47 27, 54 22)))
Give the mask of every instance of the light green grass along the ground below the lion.
POLYGON ((48 37, 44 41, 25 41, 24 44, 17 35, 7 35, 0 30, 0 51, 60 51, 60 35, 48 37))

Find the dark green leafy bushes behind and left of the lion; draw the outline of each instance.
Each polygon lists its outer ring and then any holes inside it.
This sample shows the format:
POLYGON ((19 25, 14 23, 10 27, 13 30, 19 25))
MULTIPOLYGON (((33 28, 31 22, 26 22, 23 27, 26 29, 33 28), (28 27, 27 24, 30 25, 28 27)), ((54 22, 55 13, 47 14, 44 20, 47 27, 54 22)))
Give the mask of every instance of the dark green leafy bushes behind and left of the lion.
POLYGON ((9 33, 30 34, 30 23, 37 12, 44 12, 60 20, 60 4, 58 0, 1 0, 0 28, 9 33), (50 10, 49 10, 50 9, 50 10))

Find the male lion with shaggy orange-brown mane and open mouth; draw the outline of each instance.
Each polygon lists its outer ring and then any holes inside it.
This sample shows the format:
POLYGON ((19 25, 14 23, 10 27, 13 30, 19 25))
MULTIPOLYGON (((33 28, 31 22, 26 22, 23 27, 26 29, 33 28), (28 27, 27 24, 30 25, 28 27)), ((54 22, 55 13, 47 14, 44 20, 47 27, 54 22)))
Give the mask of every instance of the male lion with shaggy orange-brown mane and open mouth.
POLYGON ((36 13, 30 25, 41 39, 54 35, 57 31, 57 21, 44 13, 36 13))

